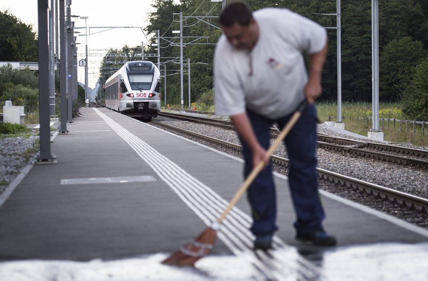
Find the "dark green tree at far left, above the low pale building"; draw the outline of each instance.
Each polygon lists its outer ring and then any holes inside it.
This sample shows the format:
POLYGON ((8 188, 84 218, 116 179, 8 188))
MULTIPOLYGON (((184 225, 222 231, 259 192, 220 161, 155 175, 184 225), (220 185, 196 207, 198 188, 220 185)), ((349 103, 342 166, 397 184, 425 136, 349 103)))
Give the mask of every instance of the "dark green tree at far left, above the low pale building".
POLYGON ((0 11, 0 61, 38 61, 36 34, 8 10, 0 11))

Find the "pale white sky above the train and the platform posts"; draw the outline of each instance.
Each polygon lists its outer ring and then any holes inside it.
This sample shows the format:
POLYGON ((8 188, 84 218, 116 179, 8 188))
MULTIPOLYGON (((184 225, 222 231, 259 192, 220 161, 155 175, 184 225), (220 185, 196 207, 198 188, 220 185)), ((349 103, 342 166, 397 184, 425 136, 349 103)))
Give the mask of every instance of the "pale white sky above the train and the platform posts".
MULTIPOLYGON (((55 0, 56 1, 56 0, 55 0)), ((58 1, 59 2, 59 1, 58 1)), ((121 49, 123 46, 141 46, 146 37, 140 28, 148 24, 148 13, 154 11, 151 7, 152 0, 72 0, 71 15, 88 17, 86 26, 88 31, 88 85, 95 87, 98 79, 98 70, 103 57, 91 56, 93 53, 105 54, 110 48, 121 49), (106 29, 93 27, 109 26, 134 26, 135 28, 114 28, 106 29), (89 28, 90 27, 90 28, 89 28), (100 32, 102 31, 102 32, 100 32), (97 33, 98 32, 98 33, 97 33), (95 34, 96 33, 96 34, 95 34), (104 51, 97 51, 104 50, 104 51)), ((9 10, 11 14, 27 25, 32 25, 37 32, 37 0, 1 0, 0 10, 9 10), (25 2, 25 4, 23 3, 25 2)), ((77 59, 85 58, 85 20, 72 18, 76 21, 75 31, 81 33, 77 35, 77 59)), ((75 34, 76 35, 76 34, 75 34)), ((153 34, 154 35, 154 34, 153 34)), ((150 34, 146 34, 150 38, 150 34)), ((77 80, 84 83, 84 67, 78 67, 77 80)))

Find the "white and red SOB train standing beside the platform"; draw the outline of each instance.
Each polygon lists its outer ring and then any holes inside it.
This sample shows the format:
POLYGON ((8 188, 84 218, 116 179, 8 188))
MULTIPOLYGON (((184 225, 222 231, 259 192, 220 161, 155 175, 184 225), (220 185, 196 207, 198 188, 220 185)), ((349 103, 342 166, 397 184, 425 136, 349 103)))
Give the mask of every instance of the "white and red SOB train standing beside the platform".
POLYGON ((151 61, 128 61, 105 81, 105 107, 151 120, 160 112, 160 72, 151 61))

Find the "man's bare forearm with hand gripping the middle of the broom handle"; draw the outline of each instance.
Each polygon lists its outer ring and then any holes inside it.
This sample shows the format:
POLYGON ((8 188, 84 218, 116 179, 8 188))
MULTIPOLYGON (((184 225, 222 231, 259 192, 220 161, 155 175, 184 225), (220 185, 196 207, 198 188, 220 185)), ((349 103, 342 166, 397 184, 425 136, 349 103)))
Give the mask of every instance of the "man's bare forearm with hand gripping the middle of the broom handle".
POLYGON ((266 150, 257 141, 257 137, 254 134, 247 113, 230 116, 230 119, 232 120, 239 136, 242 138, 242 141, 244 141, 252 151, 253 167, 255 167, 260 161, 265 162, 265 166, 267 166, 270 161, 270 155, 267 155, 266 150))

